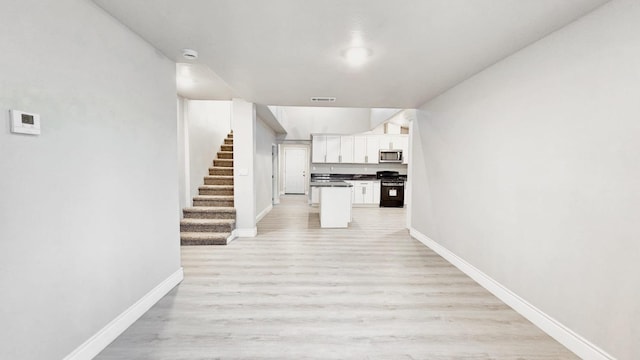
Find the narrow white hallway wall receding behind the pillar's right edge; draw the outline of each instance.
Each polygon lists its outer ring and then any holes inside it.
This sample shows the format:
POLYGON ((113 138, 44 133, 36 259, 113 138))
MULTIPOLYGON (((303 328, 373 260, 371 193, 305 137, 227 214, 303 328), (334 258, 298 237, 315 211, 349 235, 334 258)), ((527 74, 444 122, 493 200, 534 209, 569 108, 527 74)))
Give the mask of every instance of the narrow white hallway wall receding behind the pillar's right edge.
POLYGON ((254 163, 254 191, 256 196, 256 217, 264 216, 272 207, 273 162, 271 146, 276 142, 275 132, 256 118, 256 154, 254 163))

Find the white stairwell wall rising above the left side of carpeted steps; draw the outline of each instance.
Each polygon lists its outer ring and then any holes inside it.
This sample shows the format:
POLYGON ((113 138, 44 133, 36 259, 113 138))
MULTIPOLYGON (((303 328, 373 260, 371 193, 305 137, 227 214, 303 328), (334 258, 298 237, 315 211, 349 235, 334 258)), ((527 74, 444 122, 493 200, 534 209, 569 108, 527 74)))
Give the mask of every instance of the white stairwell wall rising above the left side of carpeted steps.
POLYGON ((231 130, 231 102, 185 100, 185 141, 188 147, 187 175, 189 194, 187 206, 198 195, 198 187, 209 175, 220 145, 231 130))

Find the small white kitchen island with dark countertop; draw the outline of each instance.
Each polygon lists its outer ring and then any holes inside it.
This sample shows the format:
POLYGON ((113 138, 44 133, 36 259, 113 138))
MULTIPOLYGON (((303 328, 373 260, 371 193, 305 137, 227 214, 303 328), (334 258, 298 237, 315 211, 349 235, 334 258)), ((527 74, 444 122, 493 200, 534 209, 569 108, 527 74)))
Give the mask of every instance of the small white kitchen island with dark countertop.
POLYGON ((320 190, 320 227, 346 228, 351 222, 351 187, 344 181, 312 181, 320 190))

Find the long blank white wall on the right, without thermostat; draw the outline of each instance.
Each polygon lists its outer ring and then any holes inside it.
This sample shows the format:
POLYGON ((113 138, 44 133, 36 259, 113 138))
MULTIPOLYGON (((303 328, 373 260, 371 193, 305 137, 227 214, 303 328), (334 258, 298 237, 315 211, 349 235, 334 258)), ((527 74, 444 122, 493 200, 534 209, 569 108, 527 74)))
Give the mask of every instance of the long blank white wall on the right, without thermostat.
POLYGON ((640 358, 640 3, 613 1, 425 104, 413 227, 640 358))

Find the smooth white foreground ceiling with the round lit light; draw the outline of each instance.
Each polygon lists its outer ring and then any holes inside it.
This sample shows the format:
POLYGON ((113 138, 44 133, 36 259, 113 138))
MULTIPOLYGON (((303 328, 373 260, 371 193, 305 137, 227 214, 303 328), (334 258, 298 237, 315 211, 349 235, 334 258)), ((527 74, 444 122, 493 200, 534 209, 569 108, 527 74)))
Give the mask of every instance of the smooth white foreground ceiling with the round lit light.
POLYGON ((414 108, 608 0, 94 1, 176 62, 199 52, 189 98, 414 108))

